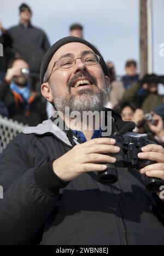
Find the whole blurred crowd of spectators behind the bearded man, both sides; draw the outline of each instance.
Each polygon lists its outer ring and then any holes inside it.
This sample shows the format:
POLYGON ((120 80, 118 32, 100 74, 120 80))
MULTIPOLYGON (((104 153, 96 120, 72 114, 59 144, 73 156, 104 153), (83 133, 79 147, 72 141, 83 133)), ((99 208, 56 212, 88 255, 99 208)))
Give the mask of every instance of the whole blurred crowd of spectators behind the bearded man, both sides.
MULTIPOLYGON (((31 8, 23 3, 19 7, 19 25, 7 30, 0 22, 0 43, 4 46, 4 56, 0 58, 0 114, 34 126, 50 118, 54 109, 41 96, 39 80, 40 64, 50 43, 45 32, 31 24, 31 18, 31 8)), ((83 26, 72 24, 69 36, 83 38, 83 26)), ((150 133, 155 141, 163 142, 160 124, 164 118, 164 90, 159 95, 159 84, 164 84, 164 77, 145 74, 140 78, 135 60, 126 61, 122 77, 116 74, 112 61, 107 61, 107 66, 110 73, 107 107, 114 108, 124 120, 135 121, 135 131, 150 133), (155 127, 145 118, 146 114, 155 120, 151 121, 155 127)))

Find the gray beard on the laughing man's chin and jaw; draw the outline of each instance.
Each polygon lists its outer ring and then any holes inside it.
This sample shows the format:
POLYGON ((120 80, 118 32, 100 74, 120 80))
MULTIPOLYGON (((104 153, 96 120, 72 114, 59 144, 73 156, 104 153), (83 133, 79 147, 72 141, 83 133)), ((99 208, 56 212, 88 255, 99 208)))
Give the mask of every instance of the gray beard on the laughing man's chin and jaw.
POLYGON ((83 114, 83 111, 101 112, 107 104, 107 89, 97 88, 96 92, 90 89, 79 91, 78 95, 70 95, 58 98, 55 91, 52 89, 54 108, 62 113, 65 113, 65 108, 69 107, 69 112, 74 111, 83 114))

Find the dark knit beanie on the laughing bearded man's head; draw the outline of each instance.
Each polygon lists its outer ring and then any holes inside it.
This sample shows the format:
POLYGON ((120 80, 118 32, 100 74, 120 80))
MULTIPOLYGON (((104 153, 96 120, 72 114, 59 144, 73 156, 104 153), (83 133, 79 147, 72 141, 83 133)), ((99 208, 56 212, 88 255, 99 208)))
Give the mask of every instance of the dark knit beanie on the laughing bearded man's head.
POLYGON ((58 40, 55 44, 53 44, 51 46, 51 48, 46 52, 46 54, 43 57, 42 64, 41 64, 41 67, 40 67, 40 82, 41 82, 41 84, 43 84, 44 75, 45 75, 46 69, 48 68, 49 63, 52 59, 52 56, 54 56, 56 51, 62 45, 65 45, 65 44, 68 44, 68 43, 73 43, 73 42, 85 44, 85 45, 89 46, 94 51, 95 54, 99 55, 101 57, 100 65, 103 69, 103 72, 104 72, 105 75, 107 75, 109 77, 109 71, 108 71, 108 67, 106 65, 106 62, 104 61, 104 59, 101 56, 101 54, 99 53, 99 51, 95 48, 95 46, 93 46, 92 44, 90 44, 86 40, 84 40, 82 38, 79 38, 79 37, 64 37, 64 38, 58 40))

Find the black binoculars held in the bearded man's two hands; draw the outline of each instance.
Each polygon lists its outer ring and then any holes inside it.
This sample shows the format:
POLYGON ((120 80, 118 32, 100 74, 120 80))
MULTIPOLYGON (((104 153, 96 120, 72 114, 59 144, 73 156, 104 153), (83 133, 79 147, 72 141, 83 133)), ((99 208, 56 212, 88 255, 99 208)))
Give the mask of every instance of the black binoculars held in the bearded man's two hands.
MULTIPOLYGON (((114 138, 116 140, 116 146, 120 148, 120 152, 117 154, 110 154, 110 156, 114 156, 116 158, 116 163, 107 163, 106 171, 98 172, 99 182, 106 185, 116 183, 118 181, 118 167, 128 167, 133 170, 140 170, 147 165, 156 164, 155 161, 150 161, 148 159, 142 160, 138 158, 138 153, 142 152, 142 147, 150 144, 148 139, 143 137, 123 137, 122 135, 110 136, 110 138, 114 138)), ((145 176, 145 187, 151 193, 159 192, 162 185, 164 185, 164 181, 162 181, 162 179, 145 176)))

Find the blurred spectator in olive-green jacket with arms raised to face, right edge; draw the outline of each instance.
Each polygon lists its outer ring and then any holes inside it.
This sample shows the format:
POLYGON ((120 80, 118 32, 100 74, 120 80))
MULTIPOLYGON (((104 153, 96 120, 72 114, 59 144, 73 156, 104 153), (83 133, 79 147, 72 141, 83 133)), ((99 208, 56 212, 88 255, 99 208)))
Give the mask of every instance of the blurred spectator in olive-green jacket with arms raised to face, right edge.
POLYGON ((150 113, 163 102, 163 95, 158 93, 158 84, 163 83, 163 77, 156 74, 144 75, 140 82, 134 83, 124 93, 124 100, 134 102, 144 113, 150 113), (142 94, 140 91, 142 90, 142 94))

